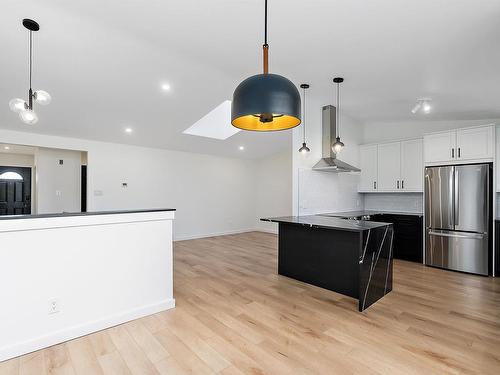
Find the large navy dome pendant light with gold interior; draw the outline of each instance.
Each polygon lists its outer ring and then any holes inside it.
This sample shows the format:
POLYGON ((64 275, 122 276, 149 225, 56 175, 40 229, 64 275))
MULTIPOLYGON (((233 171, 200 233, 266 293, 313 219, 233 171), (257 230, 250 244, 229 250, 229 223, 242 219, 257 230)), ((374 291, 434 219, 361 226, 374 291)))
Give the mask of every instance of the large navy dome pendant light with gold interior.
POLYGON ((245 79, 234 90, 231 124, 262 132, 291 129, 300 125, 300 93, 289 79, 269 73, 267 0, 264 17, 264 73, 245 79))

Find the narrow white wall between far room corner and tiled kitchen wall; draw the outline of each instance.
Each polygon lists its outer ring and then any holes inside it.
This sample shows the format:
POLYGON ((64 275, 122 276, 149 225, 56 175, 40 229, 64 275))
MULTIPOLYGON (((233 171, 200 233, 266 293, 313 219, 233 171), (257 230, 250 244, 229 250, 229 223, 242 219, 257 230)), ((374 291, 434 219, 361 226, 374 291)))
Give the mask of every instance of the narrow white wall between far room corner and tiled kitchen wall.
POLYGON ((276 231, 263 217, 292 215, 292 153, 290 150, 256 161, 256 228, 276 231))

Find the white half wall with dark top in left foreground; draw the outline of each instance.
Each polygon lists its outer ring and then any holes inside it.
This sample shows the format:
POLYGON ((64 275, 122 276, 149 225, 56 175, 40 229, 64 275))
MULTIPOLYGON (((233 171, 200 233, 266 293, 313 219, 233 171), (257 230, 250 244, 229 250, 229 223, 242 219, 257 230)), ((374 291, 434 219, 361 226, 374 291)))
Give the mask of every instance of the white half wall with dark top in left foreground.
POLYGON ((0 217, 0 361, 175 306, 174 209, 0 217))

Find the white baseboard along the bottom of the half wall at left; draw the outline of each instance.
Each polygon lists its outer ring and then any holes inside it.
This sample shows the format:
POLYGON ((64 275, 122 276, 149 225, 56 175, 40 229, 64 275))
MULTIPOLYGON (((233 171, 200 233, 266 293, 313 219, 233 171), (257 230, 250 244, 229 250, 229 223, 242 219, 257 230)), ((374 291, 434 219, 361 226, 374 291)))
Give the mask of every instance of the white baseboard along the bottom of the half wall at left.
POLYGON ((0 348, 0 362, 26 353, 31 353, 39 349, 47 348, 61 342, 72 340, 77 337, 85 336, 93 332, 101 331, 103 329, 110 328, 122 323, 126 323, 134 319, 142 318, 143 316, 156 314, 160 311, 168 310, 174 307, 175 299, 172 298, 152 305, 143 306, 133 310, 125 311, 123 313, 108 316, 99 320, 63 328, 47 335, 16 343, 14 345, 4 346, 3 348, 0 348))

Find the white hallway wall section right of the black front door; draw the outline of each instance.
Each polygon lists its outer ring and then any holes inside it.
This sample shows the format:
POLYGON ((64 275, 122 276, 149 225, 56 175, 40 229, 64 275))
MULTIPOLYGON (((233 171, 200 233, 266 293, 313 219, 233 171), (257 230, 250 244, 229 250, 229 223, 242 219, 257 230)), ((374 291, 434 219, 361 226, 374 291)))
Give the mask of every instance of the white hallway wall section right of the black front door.
POLYGON ((40 147, 35 154, 36 212, 80 212, 81 152, 40 147), (59 164, 63 160, 63 164, 59 164))

